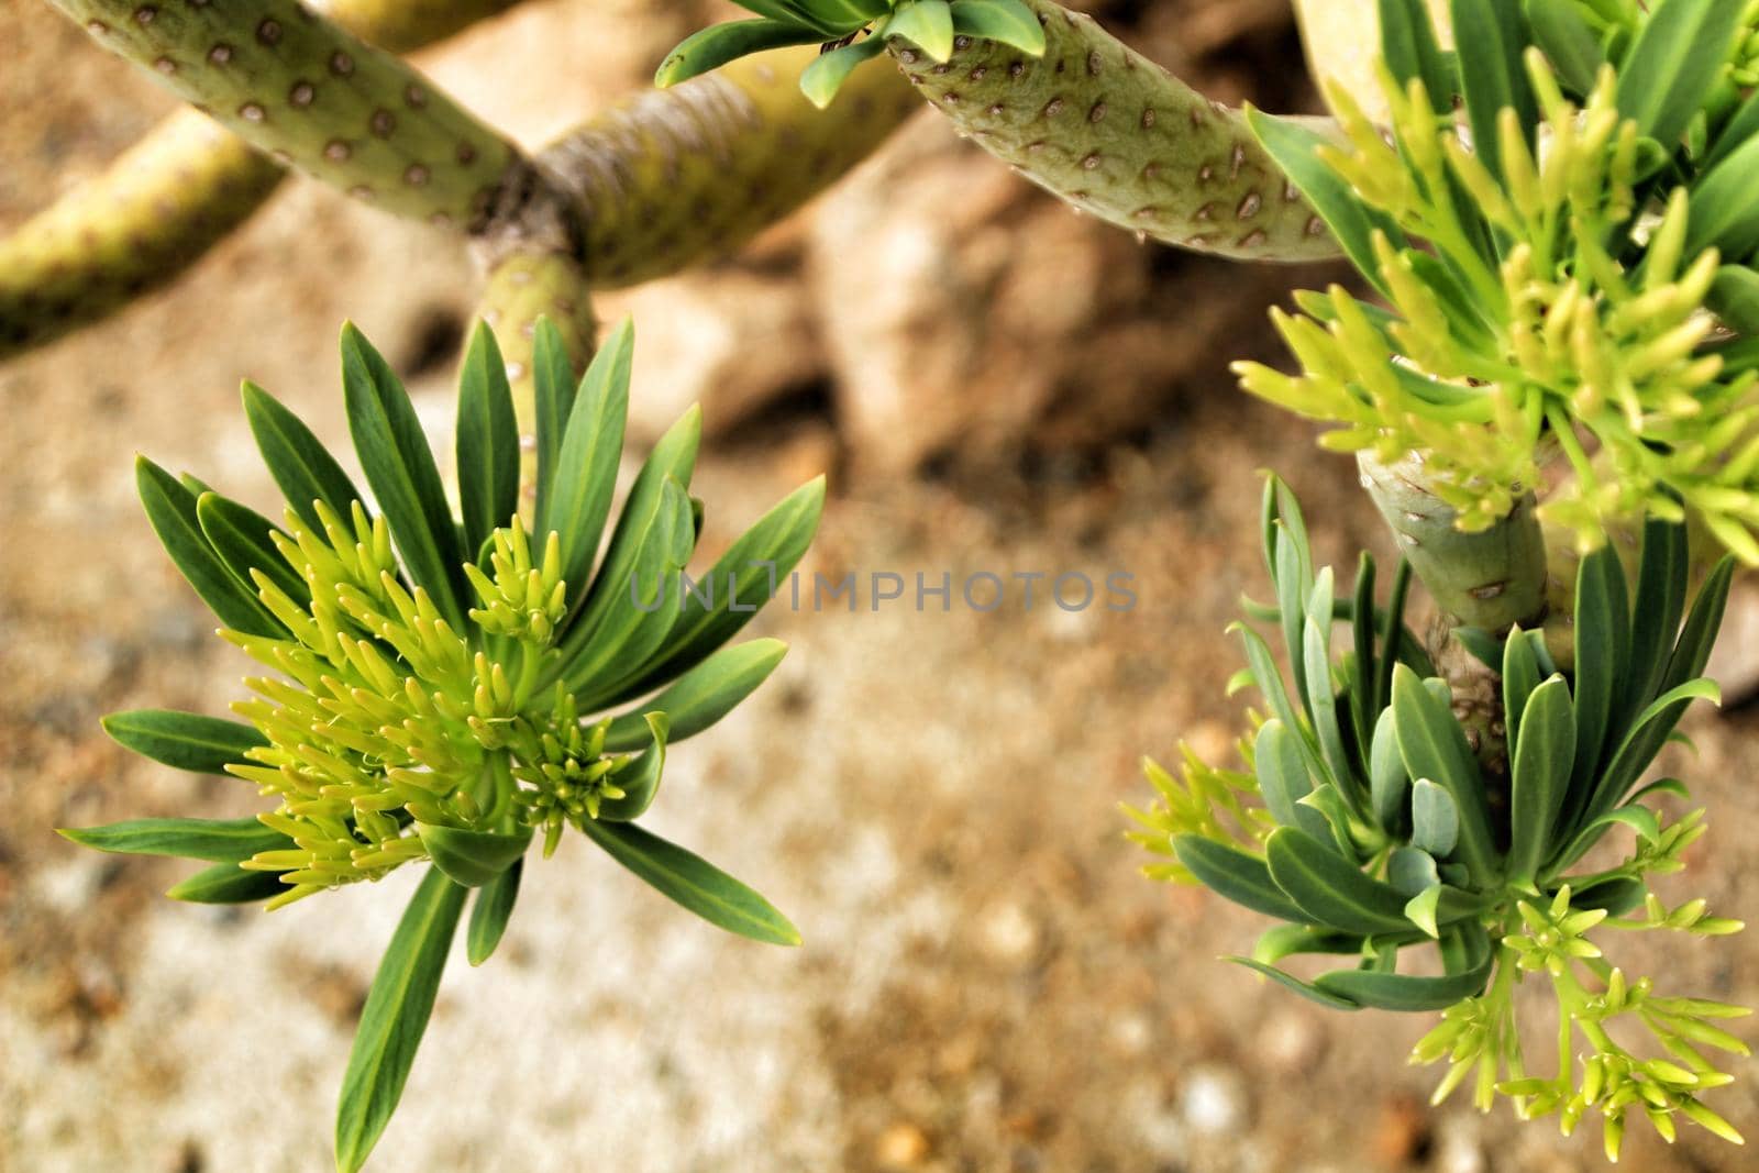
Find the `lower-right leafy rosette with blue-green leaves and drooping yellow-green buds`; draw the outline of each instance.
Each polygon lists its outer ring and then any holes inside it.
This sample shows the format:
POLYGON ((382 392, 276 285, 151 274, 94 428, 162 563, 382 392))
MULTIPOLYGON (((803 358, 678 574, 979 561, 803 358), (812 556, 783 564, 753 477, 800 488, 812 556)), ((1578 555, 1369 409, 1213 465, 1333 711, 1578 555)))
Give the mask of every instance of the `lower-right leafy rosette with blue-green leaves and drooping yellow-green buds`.
POLYGON ((1244 772, 1189 749, 1177 779, 1149 763, 1161 798, 1131 811, 1143 828, 1133 839, 1166 856, 1149 872, 1284 922, 1231 960, 1303 997, 1333 1009, 1442 1011, 1412 1053, 1448 1059, 1437 1103, 1472 1080, 1479 1108, 1504 1094, 1523 1117, 1557 1113, 1564 1133, 1594 1110, 1609 1159, 1638 1113, 1668 1140, 1690 1120, 1740 1141, 1699 1096, 1731 1080, 1704 1048, 1748 1053, 1717 1022, 1748 1011, 1664 995, 1601 951, 1615 929, 1741 929, 1704 900, 1669 907, 1650 888, 1683 867, 1704 823, 1703 811, 1669 821, 1653 805, 1664 793, 1687 797, 1683 783, 1638 786, 1692 700, 1717 700, 1703 670, 1733 559, 1687 610, 1683 526, 1650 519, 1634 596, 1611 547, 1583 561, 1574 670, 1560 672, 1537 633, 1518 626, 1481 640, 1500 670, 1507 723, 1506 758, 1488 767, 1451 709, 1449 682, 1405 628, 1409 566, 1400 563, 1381 605, 1363 554, 1346 596, 1330 566, 1314 568, 1300 506, 1275 478, 1263 535, 1275 603, 1254 612, 1282 631, 1293 688, 1265 638, 1238 624, 1249 667, 1237 682, 1259 691, 1268 716, 1252 716, 1244 772), (1333 656, 1339 619, 1349 638, 1333 656), (1583 856, 1615 832, 1632 835, 1629 855, 1587 867, 1583 856), (1402 964, 1423 951, 1434 953, 1427 969, 1402 964), (1282 967, 1302 955, 1354 964, 1314 978, 1282 967), (1557 997, 1550 1076, 1522 1050, 1514 990, 1529 976, 1557 997), (1664 1055, 1627 1050, 1608 1032, 1615 1020, 1646 1029, 1664 1055))

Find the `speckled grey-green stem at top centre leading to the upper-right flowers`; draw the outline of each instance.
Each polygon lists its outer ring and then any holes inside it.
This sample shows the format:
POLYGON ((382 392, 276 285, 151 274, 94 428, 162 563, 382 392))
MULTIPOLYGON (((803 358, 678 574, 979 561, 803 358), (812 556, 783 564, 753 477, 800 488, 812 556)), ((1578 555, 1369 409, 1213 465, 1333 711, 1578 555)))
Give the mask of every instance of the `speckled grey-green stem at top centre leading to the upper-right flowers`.
POLYGON ((1152 239, 1247 260, 1339 255, 1237 113, 1050 0, 1024 0, 1045 55, 959 37, 936 65, 892 56, 959 130, 1077 208, 1152 239))

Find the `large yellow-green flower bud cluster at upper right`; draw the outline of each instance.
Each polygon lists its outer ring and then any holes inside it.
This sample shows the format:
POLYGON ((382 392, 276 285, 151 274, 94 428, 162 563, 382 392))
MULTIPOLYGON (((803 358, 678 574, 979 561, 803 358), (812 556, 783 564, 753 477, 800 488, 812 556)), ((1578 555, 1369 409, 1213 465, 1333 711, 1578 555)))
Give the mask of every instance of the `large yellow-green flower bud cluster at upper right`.
POLYGON ((1537 146, 1504 107, 1497 141, 1474 149, 1416 77, 1398 86, 1383 70, 1391 141, 1347 91, 1330 93, 1344 142, 1319 157, 1427 246, 1376 230, 1365 271, 1391 311, 1339 287, 1302 295, 1303 315, 1275 315, 1302 369, 1245 362, 1242 383, 1339 424, 1326 447, 1388 463, 1421 452, 1462 529, 1504 517, 1560 452, 1576 477, 1543 515, 1583 547, 1613 517, 1673 519, 1683 501, 1759 561, 1759 376, 1726 375, 1704 350, 1719 257, 1685 253, 1683 188, 1638 208, 1657 160, 1615 106, 1611 67, 1578 107, 1537 49, 1525 63, 1537 146), (1641 241, 1639 262, 1627 241, 1641 241))

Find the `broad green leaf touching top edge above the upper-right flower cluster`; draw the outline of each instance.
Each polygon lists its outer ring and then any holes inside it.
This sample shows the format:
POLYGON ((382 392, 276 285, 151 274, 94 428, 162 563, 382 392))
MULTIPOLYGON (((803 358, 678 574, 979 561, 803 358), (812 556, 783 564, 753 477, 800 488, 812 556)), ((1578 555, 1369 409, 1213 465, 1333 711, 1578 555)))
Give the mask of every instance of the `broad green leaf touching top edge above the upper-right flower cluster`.
POLYGON ((1660 0, 1618 65, 1615 104, 1673 151, 1729 60, 1747 0, 1660 0))

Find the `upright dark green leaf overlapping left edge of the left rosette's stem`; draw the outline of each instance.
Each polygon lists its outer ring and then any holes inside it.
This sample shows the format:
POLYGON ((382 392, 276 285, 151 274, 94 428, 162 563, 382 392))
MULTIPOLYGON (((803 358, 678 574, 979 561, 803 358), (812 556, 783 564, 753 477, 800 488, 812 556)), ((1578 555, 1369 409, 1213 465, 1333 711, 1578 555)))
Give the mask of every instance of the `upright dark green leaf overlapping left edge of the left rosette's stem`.
POLYGON ((457 496, 466 550, 480 547, 519 512, 514 392, 487 322, 477 322, 457 383, 457 496))

